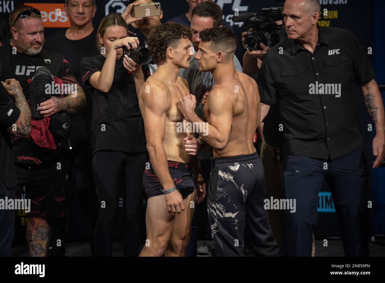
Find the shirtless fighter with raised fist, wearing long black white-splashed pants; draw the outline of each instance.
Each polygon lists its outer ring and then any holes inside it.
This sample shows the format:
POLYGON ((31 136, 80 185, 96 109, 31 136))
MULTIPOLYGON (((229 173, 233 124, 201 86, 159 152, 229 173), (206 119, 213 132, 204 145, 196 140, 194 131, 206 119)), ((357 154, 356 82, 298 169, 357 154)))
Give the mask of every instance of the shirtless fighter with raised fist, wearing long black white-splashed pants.
MULTIPOLYGON (((253 145, 260 117, 258 86, 234 68, 237 40, 228 27, 203 30, 200 40, 199 71, 211 72, 215 80, 203 108, 208 130, 199 134, 213 146, 208 211, 216 256, 244 256, 244 238, 254 255, 278 255, 263 207, 263 166, 253 145)), ((203 122, 195 105, 194 95, 187 95, 178 108, 188 122, 203 122)), ((201 146, 200 138, 189 140, 186 150, 192 142, 201 146)))

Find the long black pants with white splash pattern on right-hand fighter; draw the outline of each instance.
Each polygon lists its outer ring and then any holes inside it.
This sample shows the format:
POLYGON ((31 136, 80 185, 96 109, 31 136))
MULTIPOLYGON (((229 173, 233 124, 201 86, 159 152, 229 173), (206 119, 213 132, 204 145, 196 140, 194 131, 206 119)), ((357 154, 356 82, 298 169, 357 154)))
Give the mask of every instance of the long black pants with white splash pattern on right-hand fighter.
POLYGON ((244 256, 245 235, 254 255, 279 255, 265 199, 258 153, 214 160, 207 207, 216 256, 244 256))

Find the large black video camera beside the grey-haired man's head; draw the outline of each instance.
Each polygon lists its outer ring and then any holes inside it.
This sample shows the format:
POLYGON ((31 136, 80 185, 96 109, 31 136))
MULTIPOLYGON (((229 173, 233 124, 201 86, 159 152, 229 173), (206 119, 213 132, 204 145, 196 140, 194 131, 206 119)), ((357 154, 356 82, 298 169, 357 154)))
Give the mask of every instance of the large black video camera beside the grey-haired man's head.
POLYGON ((283 7, 263 8, 261 14, 240 13, 233 16, 231 20, 234 23, 244 22, 242 29, 248 31, 244 37, 244 46, 248 50, 261 50, 261 43, 267 47, 273 47, 280 41, 280 29, 285 26, 284 23, 277 25, 275 21, 283 21, 283 7))

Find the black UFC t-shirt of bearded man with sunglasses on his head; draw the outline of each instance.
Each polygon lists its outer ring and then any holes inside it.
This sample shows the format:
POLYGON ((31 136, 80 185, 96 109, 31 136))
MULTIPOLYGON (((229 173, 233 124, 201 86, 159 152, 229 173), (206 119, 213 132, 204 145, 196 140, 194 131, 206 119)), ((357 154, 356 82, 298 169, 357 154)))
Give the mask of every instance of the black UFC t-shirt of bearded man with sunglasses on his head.
MULTIPOLYGON (((1 80, 4 81, 8 78, 18 80, 27 100, 29 99, 29 81, 37 68, 41 66, 49 68, 55 80, 61 79, 63 83, 77 83, 68 61, 58 53, 45 49, 42 49, 35 56, 29 56, 20 52, 13 53, 10 44, 0 47, 0 61, 2 62, 1 80)), ((11 141, 15 162, 40 164, 57 155, 56 150, 38 146, 31 136, 28 138, 12 136, 11 141)))

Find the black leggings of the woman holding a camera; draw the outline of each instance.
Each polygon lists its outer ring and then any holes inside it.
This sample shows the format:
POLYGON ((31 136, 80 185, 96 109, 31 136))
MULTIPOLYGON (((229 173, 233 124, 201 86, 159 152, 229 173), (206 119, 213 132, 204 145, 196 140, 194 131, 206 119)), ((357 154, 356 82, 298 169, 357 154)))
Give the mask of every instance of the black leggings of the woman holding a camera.
POLYGON ((119 188, 124 189, 124 228, 122 246, 124 256, 138 256, 144 241, 144 190, 142 177, 149 155, 146 152, 124 153, 97 151, 92 158, 92 170, 99 205, 95 227, 97 256, 112 255, 114 220, 119 206, 119 188))

